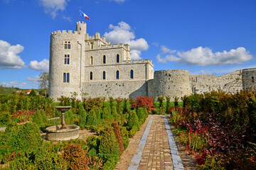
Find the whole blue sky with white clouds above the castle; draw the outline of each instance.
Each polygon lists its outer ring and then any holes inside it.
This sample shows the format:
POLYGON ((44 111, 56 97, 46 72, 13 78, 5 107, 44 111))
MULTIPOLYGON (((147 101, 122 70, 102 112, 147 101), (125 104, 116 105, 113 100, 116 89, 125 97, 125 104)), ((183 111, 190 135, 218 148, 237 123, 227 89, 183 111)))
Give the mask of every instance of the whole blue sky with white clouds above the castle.
POLYGON ((222 75, 256 67, 255 0, 0 0, 0 84, 38 88, 50 33, 75 30, 128 43, 154 69, 222 75), (78 8, 90 17, 81 18, 78 8))

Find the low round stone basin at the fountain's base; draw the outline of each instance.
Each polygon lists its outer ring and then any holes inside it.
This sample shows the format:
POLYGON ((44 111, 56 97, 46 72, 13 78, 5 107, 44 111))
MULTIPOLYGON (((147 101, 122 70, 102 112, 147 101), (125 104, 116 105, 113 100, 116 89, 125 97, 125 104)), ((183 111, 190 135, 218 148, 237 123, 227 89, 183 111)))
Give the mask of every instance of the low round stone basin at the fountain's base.
POLYGON ((46 139, 51 141, 74 140, 79 137, 79 126, 65 125, 66 129, 60 130, 61 125, 46 128, 46 139))

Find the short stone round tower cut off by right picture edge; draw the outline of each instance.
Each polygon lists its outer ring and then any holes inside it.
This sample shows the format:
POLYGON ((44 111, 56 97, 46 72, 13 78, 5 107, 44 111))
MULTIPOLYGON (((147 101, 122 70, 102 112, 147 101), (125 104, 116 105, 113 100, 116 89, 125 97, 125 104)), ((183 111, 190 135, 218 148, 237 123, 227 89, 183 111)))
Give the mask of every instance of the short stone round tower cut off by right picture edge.
POLYGON ((256 68, 242 69, 242 89, 256 89, 256 68))

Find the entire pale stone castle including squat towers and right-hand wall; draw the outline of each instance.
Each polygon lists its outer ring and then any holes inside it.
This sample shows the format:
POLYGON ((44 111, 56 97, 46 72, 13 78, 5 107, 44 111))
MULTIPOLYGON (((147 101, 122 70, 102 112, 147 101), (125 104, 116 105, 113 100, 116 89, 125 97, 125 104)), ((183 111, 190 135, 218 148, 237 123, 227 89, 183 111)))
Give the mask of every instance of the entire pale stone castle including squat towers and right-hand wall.
POLYGON ((188 70, 154 72, 151 60, 131 60, 129 45, 111 45, 100 33, 89 36, 86 23, 76 30, 50 35, 49 96, 135 98, 169 96, 221 89, 236 92, 255 87, 256 69, 243 69, 220 77, 190 75, 188 70))

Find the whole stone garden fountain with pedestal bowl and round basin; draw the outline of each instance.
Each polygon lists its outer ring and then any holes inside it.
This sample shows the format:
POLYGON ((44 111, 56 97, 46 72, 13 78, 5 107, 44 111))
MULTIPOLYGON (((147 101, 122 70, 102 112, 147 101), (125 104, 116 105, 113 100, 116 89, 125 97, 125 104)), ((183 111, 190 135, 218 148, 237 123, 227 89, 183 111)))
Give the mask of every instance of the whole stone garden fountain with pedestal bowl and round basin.
POLYGON ((70 110, 71 106, 55 107, 61 112, 61 125, 50 126, 46 128, 46 139, 52 141, 74 140, 79 137, 79 126, 65 125, 65 111, 70 110))

